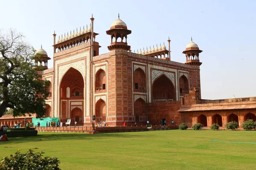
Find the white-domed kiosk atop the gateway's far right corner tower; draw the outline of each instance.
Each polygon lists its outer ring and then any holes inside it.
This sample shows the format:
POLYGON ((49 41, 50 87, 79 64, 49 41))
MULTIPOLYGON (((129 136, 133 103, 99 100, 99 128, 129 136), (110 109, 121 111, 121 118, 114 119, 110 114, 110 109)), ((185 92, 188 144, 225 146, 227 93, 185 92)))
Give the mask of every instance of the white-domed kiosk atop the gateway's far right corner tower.
POLYGON ((200 66, 202 63, 199 61, 199 53, 201 52, 202 50, 200 50, 198 45, 193 42, 191 37, 191 42, 186 46, 185 51, 182 52, 183 54, 186 54, 186 64, 200 66))

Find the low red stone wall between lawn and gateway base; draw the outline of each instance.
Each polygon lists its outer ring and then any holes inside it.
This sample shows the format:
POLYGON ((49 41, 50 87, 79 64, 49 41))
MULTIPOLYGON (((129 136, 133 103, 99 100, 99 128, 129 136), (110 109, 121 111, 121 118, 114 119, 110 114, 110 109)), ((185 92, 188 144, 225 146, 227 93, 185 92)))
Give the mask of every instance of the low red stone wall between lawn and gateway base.
POLYGON ((116 132, 138 132, 148 130, 172 130, 178 129, 177 126, 127 126, 127 127, 96 127, 93 130, 91 126, 79 127, 35 127, 39 132, 73 132, 73 133, 116 133, 116 132))

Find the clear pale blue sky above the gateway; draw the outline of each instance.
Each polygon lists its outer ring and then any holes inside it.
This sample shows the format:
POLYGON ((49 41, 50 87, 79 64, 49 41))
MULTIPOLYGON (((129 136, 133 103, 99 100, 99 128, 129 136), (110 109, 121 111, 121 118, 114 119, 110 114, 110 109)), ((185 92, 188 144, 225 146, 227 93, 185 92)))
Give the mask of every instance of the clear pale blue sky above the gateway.
MULTIPOLYGON (((90 24, 93 13, 100 54, 108 52, 111 23, 123 20, 132 51, 149 45, 167 46, 171 39, 173 61, 185 62, 182 51, 190 37, 200 54, 203 99, 256 96, 255 0, 0 0, 0 28, 15 28, 48 56, 57 37, 90 24)), ((52 67, 53 59, 48 68, 52 67)))

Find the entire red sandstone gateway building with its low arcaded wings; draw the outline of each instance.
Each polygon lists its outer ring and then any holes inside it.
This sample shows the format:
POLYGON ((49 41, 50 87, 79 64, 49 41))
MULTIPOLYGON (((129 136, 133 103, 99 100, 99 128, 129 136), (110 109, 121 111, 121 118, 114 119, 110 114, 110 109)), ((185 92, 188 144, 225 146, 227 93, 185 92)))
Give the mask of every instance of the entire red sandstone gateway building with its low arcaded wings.
MULTIPOLYGON (((224 126, 236 121, 239 126, 246 119, 256 121, 256 98, 203 100, 201 99, 199 54, 202 50, 192 41, 186 45, 184 62, 171 60, 170 39, 165 44, 146 44, 140 51, 131 50, 128 35, 131 30, 119 16, 106 31, 109 52, 99 54, 95 41, 94 18, 89 28, 76 28, 60 34, 56 42, 53 34, 53 68, 48 68, 48 54, 41 47, 36 65, 50 82, 45 117, 59 117, 61 122, 71 119, 71 126, 92 126, 107 122, 108 126, 166 125, 186 122, 189 126, 213 123, 224 126), (70 32, 70 34, 69 34, 70 32), (64 36, 63 36, 64 35, 64 36), (185 60, 186 59, 186 60, 185 60)), ((32 118, 25 116, 28 122, 32 118)), ((0 124, 24 125, 25 117, 6 115, 0 124)), ((35 117, 33 115, 32 117, 35 117)))

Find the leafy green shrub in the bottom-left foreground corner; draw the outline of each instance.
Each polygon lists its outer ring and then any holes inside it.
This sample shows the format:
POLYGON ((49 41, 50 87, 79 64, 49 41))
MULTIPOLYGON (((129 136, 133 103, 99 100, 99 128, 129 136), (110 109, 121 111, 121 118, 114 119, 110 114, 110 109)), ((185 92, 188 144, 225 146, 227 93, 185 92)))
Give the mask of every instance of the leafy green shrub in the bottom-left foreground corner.
POLYGON ((1 160, 0 170, 60 170, 59 163, 58 158, 43 157, 43 152, 34 153, 29 149, 26 153, 20 153, 18 150, 1 160))

